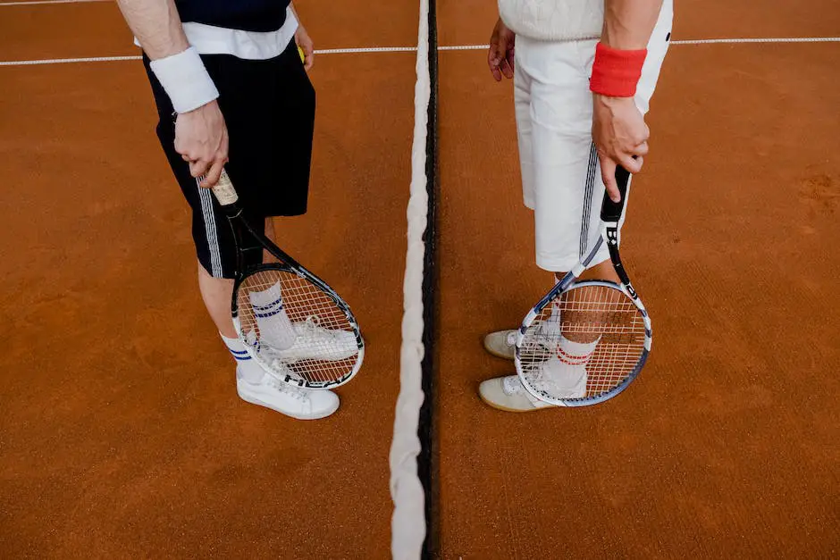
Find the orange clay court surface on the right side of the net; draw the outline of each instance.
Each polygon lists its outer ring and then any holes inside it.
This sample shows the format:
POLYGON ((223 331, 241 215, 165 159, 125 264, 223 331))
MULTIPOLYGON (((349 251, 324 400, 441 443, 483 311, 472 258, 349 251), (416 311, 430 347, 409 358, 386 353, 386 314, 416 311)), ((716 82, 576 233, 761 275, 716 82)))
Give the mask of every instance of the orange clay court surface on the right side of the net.
MULTIPOLYGON (((486 43, 491 4, 442 4, 441 44, 486 43)), ((730 4, 677 2, 673 38, 840 29, 826 1, 730 4)), ((483 51, 441 56, 442 557, 838 554, 838 59, 838 43, 671 46, 622 238, 651 359, 605 404, 509 414, 477 395, 514 372, 481 339, 551 280, 512 84, 483 51)))

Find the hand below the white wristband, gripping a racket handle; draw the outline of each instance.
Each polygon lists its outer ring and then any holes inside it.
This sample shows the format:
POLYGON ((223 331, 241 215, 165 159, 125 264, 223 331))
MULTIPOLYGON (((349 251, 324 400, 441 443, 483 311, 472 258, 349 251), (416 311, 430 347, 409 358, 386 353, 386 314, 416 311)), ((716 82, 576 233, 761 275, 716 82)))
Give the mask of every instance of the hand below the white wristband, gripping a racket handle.
POLYGON ((193 177, 205 175, 201 187, 210 188, 218 182, 228 162, 228 129, 216 101, 178 115, 175 151, 189 163, 193 177))

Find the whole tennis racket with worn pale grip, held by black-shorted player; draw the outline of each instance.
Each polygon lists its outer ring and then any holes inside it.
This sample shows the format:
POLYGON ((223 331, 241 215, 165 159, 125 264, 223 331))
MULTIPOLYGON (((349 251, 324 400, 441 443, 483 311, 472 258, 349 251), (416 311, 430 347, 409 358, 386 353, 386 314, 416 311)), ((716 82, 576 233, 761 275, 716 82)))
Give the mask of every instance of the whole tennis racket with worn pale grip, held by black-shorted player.
POLYGON ((231 315, 248 355, 276 379, 296 387, 334 389, 347 383, 365 355, 349 305, 248 223, 226 171, 213 194, 231 221, 237 244, 231 315), (281 262, 245 265, 246 231, 281 262))

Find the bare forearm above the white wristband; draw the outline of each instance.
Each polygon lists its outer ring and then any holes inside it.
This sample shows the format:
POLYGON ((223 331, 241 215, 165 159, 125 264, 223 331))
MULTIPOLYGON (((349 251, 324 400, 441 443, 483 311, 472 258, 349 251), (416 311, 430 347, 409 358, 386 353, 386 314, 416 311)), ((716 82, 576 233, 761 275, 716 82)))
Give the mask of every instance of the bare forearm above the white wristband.
POLYGON ((117 0, 122 17, 152 60, 189 47, 172 0, 117 0))

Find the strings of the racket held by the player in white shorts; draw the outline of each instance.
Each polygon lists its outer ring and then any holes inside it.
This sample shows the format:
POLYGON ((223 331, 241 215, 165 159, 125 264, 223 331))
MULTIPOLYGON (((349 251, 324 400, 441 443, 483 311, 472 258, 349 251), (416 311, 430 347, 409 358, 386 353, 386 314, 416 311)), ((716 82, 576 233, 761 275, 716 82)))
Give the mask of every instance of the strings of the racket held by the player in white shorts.
POLYGON ((526 328, 520 372, 551 399, 596 397, 634 372, 645 332, 642 313, 620 289, 573 286, 526 328))

